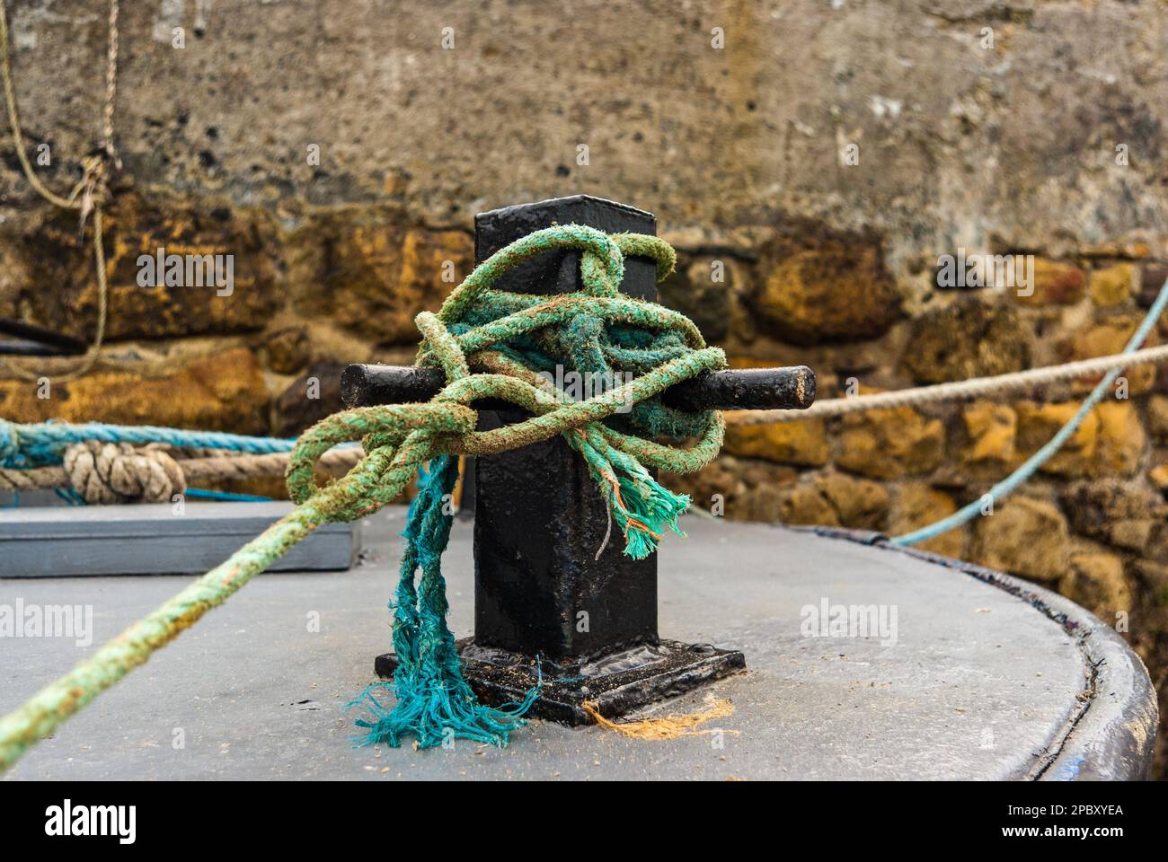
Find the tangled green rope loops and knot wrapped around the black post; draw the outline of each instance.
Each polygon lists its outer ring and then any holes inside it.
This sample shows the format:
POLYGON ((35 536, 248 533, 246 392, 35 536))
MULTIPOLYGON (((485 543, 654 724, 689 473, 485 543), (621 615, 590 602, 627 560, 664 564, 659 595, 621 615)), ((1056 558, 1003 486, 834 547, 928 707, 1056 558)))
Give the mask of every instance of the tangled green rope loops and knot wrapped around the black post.
POLYGON ((724 433, 719 415, 672 410, 658 396, 674 383, 725 368, 725 356, 707 347, 684 315, 620 294, 626 253, 653 259, 658 278, 676 263, 673 249, 658 237, 607 236, 579 224, 538 230, 496 251, 454 289, 437 314, 422 312, 415 319, 422 334, 417 363, 443 369, 442 392, 427 404, 357 408, 317 423, 288 459, 292 499, 306 503, 327 493, 331 502, 324 516, 347 520, 392 500, 437 454, 494 454, 563 435, 585 457, 614 516, 627 527, 626 552, 649 552, 660 537, 653 517, 669 520, 666 510, 673 500, 652 516, 627 509, 651 507, 668 494, 646 481, 648 473, 638 458, 691 472, 717 454, 724 433), (582 291, 548 297, 491 290, 503 273, 535 255, 568 250, 580 252, 582 291), (571 391, 550 385, 568 377, 584 385, 571 391), (470 405, 486 398, 533 416, 475 431, 478 413, 470 405), (631 426, 626 432, 602 424, 618 415, 631 426), (698 442, 682 449, 651 439, 656 437, 698 442), (313 473, 319 459, 352 440, 362 442, 366 461, 339 482, 318 487, 313 473))

